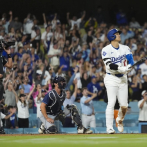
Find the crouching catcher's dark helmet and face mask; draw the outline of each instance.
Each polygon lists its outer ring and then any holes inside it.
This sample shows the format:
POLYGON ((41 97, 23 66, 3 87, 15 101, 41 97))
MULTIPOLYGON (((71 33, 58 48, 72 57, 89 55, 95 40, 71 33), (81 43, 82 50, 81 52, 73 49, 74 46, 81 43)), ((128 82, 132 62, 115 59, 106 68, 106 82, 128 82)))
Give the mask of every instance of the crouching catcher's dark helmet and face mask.
POLYGON ((66 81, 64 77, 56 76, 53 79, 53 86, 54 86, 54 83, 58 84, 59 89, 65 89, 66 81))

